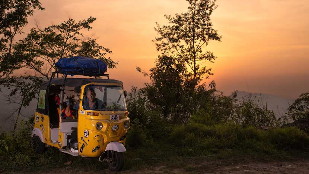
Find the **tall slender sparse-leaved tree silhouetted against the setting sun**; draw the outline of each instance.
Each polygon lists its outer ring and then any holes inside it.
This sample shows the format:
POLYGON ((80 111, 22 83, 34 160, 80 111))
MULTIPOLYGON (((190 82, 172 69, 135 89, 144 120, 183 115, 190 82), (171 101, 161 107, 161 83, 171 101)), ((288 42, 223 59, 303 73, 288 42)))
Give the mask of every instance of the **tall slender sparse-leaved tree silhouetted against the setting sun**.
POLYGON ((221 36, 212 28, 210 15, 217 8, 216 0, 187 0, 188 12, 176 13, 175 17, 165 15, 171 25, 160 26, 157 22, 155 30, 160 35, 154 42, 157 50, 171 54, 179 62, 184 62, 190 71, 184 77, 196 85, 212 75, 211 68, 201 67, 205 61, 214 63, 216 58, 212 52, 204 51, 211 40, 220 41, 221 36))

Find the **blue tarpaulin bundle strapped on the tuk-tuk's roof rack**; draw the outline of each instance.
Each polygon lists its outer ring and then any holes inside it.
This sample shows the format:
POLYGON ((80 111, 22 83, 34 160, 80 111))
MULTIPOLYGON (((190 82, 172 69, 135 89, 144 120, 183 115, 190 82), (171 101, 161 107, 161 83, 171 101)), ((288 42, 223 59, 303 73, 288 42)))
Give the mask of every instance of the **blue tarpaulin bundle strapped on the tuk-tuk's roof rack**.
POLYGON ((58 71, 67 72, 71 76, 76 73, 102 75, 107 70, 107 64, 103 60, 81 56, 61 58, 55 63, 55 66, 58 71))

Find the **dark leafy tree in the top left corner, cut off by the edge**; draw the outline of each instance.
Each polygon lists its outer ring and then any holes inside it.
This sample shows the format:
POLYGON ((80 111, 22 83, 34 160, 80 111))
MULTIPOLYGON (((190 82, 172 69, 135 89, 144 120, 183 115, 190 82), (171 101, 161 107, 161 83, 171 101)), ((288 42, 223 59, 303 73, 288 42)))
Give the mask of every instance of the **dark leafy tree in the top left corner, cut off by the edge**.
POLYGON ((14 37, 23 33, 23 27, 28 24, 27 17, 32 16, 36 8, 45 10, 39 0, 1 0, 0 77, 9 76, 14 71, 10 67, 14 37))

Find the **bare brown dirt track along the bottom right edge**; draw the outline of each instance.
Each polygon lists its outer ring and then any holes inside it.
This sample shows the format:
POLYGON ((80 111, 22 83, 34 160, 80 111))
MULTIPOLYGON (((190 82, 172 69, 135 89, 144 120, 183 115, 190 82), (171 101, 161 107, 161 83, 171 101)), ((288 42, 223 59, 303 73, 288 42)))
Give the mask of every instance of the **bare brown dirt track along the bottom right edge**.
POLYGON ((299 161, 200 161, 190 164, 186 167, 177 166, 156 166, 145 167, 142 170, 135 172, 122 171, 121 174, 131 173, 145 173, 145 174, 163 174, 163 173, 177 173, 177 174, 308 174, 309 173, 309 160, 299 161))

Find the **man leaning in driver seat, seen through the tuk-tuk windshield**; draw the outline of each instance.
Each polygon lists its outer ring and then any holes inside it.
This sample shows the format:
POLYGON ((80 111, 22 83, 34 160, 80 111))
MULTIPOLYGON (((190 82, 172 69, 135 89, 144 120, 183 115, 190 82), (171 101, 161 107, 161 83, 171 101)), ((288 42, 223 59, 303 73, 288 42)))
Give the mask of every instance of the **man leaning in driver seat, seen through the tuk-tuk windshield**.
POLYGON ((92 88, 88 88, 87 98, 83 100, 84 109, 106 109, 106 106, 102 100, 95 98, 95 91, 92 88))

